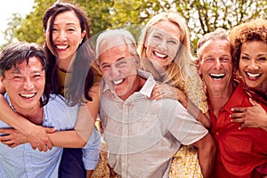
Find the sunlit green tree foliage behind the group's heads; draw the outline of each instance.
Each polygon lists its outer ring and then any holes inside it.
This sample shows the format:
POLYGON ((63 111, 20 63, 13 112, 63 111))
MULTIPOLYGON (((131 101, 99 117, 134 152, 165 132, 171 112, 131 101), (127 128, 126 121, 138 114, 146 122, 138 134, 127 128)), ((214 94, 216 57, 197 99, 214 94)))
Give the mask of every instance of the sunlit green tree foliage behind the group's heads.
MULTIPOLYGON (((44 43, 44 11, 54 0, 35 0, 33 11, 25 20, 14 20, 10 29, 20 41, 44 43)), ((127 28, 136 39, 142 27, 158 12, 179 12, 188 22, 190 40, 195 48, 198 38, 215 28, 231 29, 255 18, 267 18, 266 0, 72 0, 91 19, 91 35, 106 28, 127 28)), ((11 33, 11 31, 9 31, 11 33)), ((12 36, 12 37, 13 37, 12 36)))

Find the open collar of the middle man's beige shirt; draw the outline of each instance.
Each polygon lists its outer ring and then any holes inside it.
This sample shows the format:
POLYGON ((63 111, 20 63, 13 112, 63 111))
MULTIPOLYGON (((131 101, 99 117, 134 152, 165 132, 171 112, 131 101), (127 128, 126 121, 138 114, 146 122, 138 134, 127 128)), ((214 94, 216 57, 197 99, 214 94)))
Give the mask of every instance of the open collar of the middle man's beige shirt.
MULTIPOLYGON (((142 89, 139 92, 142 93, 143 95, 147 96, 147 97, 150 97, 154 86, 157 84, 156 81, 154 80, 154 78, 153 78, 152 74, 150 74, 150 72, 146 72, 146 71, 143 71, 141 69, 138 69, 137 74, 140 77, 146 79, 145 84, 142 86, 142 89)), ((103 78, 101 80, 101 88, 102 88, 101 93, 106 93, 107 91, 109 91, 110 93, 113 93, 114 95, 116 95, 116 93, 114 91, 110 90, 109 85, 107 85, 107 83, 104 81, 103 78)))

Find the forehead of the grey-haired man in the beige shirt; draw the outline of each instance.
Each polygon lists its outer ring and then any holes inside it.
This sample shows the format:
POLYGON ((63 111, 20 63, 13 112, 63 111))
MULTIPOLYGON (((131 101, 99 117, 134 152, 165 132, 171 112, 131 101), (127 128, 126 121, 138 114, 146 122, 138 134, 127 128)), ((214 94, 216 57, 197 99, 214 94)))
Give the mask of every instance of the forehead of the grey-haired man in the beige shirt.
MULTIPOLYGON (((101 46, 101 48, 104 48, 105 46, 101 46)), ((120 59, 124 59, 127 57, 132 57, 133 53, 131 53, 128 49, 128 46, 126 44, 119 44, 116 46, 113 46, 107 50, 102 51, 99 61, 100 63, 103 62, 112 62, 117 61, 120 59)))

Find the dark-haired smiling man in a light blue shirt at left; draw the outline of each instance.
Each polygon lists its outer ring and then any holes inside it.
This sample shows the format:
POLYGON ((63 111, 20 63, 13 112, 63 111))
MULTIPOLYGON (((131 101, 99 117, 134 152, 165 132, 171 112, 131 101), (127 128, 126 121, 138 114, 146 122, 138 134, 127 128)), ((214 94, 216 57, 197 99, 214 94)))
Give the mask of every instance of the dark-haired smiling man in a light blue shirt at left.
MULTIPOLYGON (((4 98, 15 112, 36 125, 56 127, 58 131, 71 130, 77 122, 78 105, 69 107, 63 97, 50 94, 45 85, 47 65, 44 51, 37 44, 20 42, 5 47, 0 58, 4 98)), ((0 121, 0 128, 10 126, 0 121)), ((91 138, 98 136, 93 132, 91 138)), ((90 139, 85 148, 95 140, 90 139)), ((8 145, 8 141, 5 144, 8 145)), ((33 150, 29 143, 10 147, 0 144, 1 176, 58 177, 62 148, 53 147, 42 152, 33 150)), ((85 149, 85 157, 90 156, 90 151, 85 149)), ((84 161, 86 166, 92 164, 90 159, 84 161)))

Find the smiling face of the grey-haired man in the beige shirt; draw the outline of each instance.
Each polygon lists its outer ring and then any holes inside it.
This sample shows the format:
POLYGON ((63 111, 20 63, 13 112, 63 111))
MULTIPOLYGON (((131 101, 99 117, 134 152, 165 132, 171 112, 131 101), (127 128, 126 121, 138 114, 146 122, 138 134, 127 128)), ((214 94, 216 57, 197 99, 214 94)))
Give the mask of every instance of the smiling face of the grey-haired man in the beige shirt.
POLYGON ((119 44, 101 53, 99 62, 107 85, 118 97, 125 100, 136 91, 139 86, 139 59, 128 51, 126 44, 119 44))

